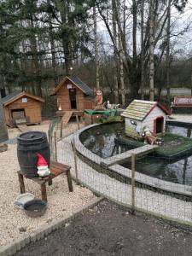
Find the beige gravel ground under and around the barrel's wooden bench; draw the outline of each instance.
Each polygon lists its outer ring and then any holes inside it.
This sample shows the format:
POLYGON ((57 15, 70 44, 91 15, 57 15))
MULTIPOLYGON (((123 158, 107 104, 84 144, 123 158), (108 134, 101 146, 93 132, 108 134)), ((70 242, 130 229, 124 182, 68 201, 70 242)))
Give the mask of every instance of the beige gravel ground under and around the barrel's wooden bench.
MULTIPOLYGON (((77 129, 75 125, 68 125, 65 131, 69 133, 77 129)), ((29 128, 30 130, 47 131, 48 122, 44 122, 43 125, 29 126, 29 128)), ((18 129, 9 129, 9 138, 13 138, 18 134, 18 129)), ((89 189, 85 189, 75 183, 73 183, 73 193, 68 192, 67 178, 63 174, 55 177, 52 186, 47 186, 48 209, 44 216, 30 218, 14 205, 15 198, 20 195, 16 145, 9 145, 8 151, 0 153, 0 163, 0 246, 15 241, 23 234, 38 230, 41 226, 49 224, 55 219, 70 216, 75 209, 82 207, 94 198, 89 189)), ((25 184, 26 192, 31 192, 37 198, 41 198, 40 188, 37 183, 25 179, 25 184)))

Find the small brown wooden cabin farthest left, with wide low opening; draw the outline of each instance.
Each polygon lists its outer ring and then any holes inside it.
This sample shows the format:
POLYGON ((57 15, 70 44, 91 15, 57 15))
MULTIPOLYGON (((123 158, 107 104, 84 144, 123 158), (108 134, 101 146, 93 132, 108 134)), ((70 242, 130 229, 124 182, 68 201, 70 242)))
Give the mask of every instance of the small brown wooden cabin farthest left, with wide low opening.
POLYGON ((2 99, 5 122, 7 125, 39 124, 42 120, 41 109, 44 99, 32 96, 25 91, 14 91, 2 99))

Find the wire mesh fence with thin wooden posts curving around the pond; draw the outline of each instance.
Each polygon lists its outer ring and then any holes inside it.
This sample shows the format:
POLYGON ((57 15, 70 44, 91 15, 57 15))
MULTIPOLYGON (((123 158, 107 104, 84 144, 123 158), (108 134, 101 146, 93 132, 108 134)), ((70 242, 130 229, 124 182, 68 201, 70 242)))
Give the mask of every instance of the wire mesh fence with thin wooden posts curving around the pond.
MULTIPOLYGON (((108 127, 110 130, 111 124, 108 127)), ((115 143, 116 127, 113 134, 101 126, 88 128, 76 121, 61 127, 57 121, 49 134, 52 156, 72 166, 72 176, 78 183, 130 207, 132 212, 138 210, 188 226, 192 224, 189 151, 177 158, 166 158, 155 153, 156 145, 126 147, 115 143)))

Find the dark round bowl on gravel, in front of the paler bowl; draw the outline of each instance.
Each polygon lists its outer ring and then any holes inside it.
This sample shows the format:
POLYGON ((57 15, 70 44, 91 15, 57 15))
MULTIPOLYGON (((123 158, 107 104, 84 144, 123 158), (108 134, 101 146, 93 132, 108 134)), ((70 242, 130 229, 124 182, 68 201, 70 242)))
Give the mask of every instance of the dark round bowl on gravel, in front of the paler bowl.
POLYGON ((47 209, 47 202, 39 199, 27 201, 23 206, 24 211, 30 217, 39 217, 44 215, 47 209))

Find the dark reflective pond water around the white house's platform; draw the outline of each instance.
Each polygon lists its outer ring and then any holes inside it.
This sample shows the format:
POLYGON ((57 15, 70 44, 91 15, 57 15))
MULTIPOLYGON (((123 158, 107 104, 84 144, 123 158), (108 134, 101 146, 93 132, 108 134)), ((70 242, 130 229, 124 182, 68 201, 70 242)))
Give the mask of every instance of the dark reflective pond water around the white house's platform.
MULTIPOLYGON (((94 154, 108 158, 136 148, 132 145, 129 147, 115 145, 114 139, 123 135, 124 130, 125 125, 121 123, 98 125, 82 132, 80 140, 94 154)), ((184 137, 192 137, 192 127, 167 125, 166 131, 184 137)), ((127 161, 122 166, 131 168, 131 163, 127 161)), ((136 161, 136 171, 174 183, 192 185, 192 155, 186 154, 177 160, 165 160, 154 154, 148 154, 136 161)))

